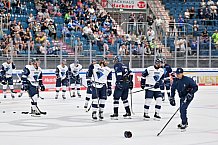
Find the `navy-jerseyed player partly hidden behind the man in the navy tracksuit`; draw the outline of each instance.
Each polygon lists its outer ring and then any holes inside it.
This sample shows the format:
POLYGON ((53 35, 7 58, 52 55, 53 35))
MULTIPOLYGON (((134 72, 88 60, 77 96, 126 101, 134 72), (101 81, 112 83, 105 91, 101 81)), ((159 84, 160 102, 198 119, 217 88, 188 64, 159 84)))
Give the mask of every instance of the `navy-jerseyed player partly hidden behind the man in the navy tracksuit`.
POLYGON ((163 58, 162 59, 162 67, 164 69, 164 82, 162 83, 162 85, 160 86, 160 89, 161 89, 161 93, 162 93, 162 101, 165 100, 165 88, 166 88, 166 91, 167 91, 167 96, 168 96, 168 99, 170 98, 170 76, 171 76, 171 73, 172 73, 172 68, 169 64, 166 63, 166 59, 163 58))

